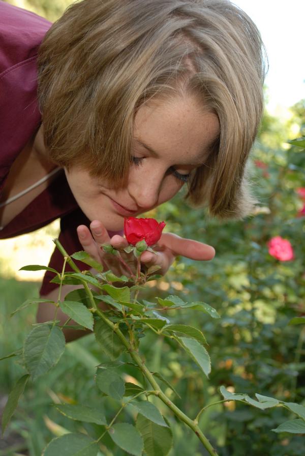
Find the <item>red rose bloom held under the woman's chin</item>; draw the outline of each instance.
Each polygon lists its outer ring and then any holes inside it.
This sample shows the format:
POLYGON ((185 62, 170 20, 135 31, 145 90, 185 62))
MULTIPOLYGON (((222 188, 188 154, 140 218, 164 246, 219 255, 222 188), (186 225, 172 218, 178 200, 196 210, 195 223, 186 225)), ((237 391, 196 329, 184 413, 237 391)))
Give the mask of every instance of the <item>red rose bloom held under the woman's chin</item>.
POLYGON ((155 245, 162 235, 165 222, 157 222, 154 218, 128 217, 124 220, 126 239, 132 245, 145 241, 147 245, 155 245))

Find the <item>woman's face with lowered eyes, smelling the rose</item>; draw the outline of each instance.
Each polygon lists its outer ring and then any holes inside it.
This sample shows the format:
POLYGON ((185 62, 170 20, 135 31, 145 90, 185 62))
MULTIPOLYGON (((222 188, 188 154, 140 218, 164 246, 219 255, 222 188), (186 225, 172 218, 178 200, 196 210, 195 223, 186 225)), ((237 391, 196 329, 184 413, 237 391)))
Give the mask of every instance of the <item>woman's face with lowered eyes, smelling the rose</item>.
POLYGON ((108 231, 121 230, 124 217, 137 216, 170 200, 202 165, 219 135, 214 113, 194 97, 157 99, 139 108, 133 134, 133 162, 124 186, 93 178, 79 166, 66 170, 84 214, 108 231))

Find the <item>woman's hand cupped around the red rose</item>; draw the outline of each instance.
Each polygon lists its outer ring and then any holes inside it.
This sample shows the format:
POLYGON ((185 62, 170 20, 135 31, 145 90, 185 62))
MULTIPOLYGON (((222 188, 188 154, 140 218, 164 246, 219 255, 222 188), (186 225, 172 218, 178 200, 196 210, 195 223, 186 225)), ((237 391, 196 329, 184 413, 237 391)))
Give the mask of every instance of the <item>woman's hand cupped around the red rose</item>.
MULTIPOLYGON (((123 251, 128 245, 127 240, 119 235, 115 235, 110 239, 107 230, 100 221, 92 221, 90 230, 85 225, 79 225, 77 233, 83 249, 96 261, 102 263, 105 269, 111 269, 116 275, 129 275, 114 255, 107 254, 100 248, 101 244, 111 244, 116 249, 122 250, 121 254, 122 256, 124 255, 124 261, 134 269, 132 255, 127 255, 123 251)), ((156 250, 156 253, 144 251, 141 255, 141 263, 147 268, 153 265, 160 266, 161 269, 158 274, 162 275, 166 273, 177 255, 197 261, 212 260, 215 256, 215 249, 210 245, 193 241, 192 239, 184 239, 172 233, 162 234, 154 250, 156 250)))

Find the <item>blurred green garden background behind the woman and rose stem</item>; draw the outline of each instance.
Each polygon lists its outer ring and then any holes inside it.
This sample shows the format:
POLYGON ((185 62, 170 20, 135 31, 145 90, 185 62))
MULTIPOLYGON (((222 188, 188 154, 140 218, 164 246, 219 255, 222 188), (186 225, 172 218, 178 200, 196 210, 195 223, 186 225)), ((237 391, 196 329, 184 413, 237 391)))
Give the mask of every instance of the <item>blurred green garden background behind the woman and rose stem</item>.
MULTIPOLYGON (((10 3, 56 19, 70 3, 63 0, 23 0, 10 3)), ((178 317, 174 322, 199 327, 208 340, 212 361, 209 380, 168 340, 147 334, 141 352, 151 370, 160 372, 176 388, 175 403, 189 416, 220 399, 218 388, 231 392, 255 393, 287 402, 305 403, 305 333, 302 325, 288 326, 295 316, 305 315, 305 226, 300 215, 304 201, 297 190, 305 187, 305 152, 287 144, 288 139, 305 135, 305 101, 293 106, 285 120, 265 113, 256 141, 250 173, 259 206, 243 221, 211 220, 202 210, 190 208, 177 195, 150 214, 167 222, 167 230, 215 246, 212 262, 195 263, 177 259, 167 276, 147 289, 147 299, 177 294, 182 299, 201 300, 214 306, 220 320, 200 312, 178 317), (294 259, 280 262, 268 253, 273 236, 288 239, 294 259)), ((25 335, 35 323, 35 309, 28 307, 10 318, 10 313, 29 297, 38 296, 39 273, 18 272, 26 264, 47 264, 53 249, 52 237, 58 222, 32 235, 1 241, 0 253, 0 357, 21 348, 25 335)), ((46 443, 65 432, 79 430, 79 424, 59 415, 52 403, 64 400, 87 405, 100 404, 109 418, 115 404, 103 400, 95 387, 95 366, 102 360, 92 335, 68 344, 55 369, 29 384, 16 414, 0 440, 0 456, 40 456, 46 443)), ((22 374, 14 358, 0 365, 0 409, 7 394, 22 374)), ((131 377, 142 381, 130 367, 131 377)), ((169 395, 170 390, 166 391, 169 395)), ((132 420, 125 412, 123 420, 132 420)), ((175 446, 170 456, 206 454, 196 436, 171 417, 175 446)), ((293 417, 293 415, 292 415, 293 417)), ((226 403, 208 409, 201 417, 202 430, 221 456, 304 456, 304 437, 275 434, 270 430, 289 419, 283 408, 260 411, 243 404, 226 403)), ((90 435, 98 429, 86 426, 90 435)), ((103 440, 106 456, 123 456, 120 449, 103 440), (107 448, 108 449, 107 449, 107 448)))

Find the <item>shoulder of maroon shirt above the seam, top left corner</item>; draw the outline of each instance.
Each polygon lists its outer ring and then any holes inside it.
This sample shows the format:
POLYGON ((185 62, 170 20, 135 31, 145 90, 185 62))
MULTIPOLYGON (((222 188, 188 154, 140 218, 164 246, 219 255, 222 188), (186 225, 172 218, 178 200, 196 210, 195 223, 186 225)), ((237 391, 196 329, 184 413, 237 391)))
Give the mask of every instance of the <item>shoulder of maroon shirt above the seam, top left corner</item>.
POLYGON ((0 0, 0 75, 35 56, 50 26, 45 18, 0 0))

